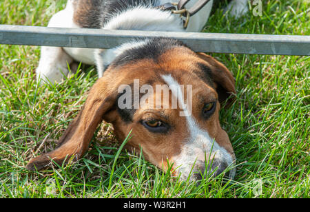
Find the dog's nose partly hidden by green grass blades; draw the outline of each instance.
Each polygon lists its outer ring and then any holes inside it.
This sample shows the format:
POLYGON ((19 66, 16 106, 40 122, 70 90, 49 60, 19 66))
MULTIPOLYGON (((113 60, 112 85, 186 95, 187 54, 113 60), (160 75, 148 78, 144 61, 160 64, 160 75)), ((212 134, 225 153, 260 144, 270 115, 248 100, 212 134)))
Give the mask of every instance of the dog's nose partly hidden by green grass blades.
POLYGON ((223 160, 214 158, 213 160, 210 160, 209 163, 206 162, 200 162, 200 164, 203 163, 203 165, 199 166, 199 171, 195 174, 196 178, 198 180, 202 179, 202 174, 206 174, 206 176, 213 176, 216 177, 220 175, 220 173, 223 173, 225 169, 228 167, 227 163, 223 160), (207 165, 207 170, 206 170, 207 165), (207 171, 207 173, 205 173, 207 171))

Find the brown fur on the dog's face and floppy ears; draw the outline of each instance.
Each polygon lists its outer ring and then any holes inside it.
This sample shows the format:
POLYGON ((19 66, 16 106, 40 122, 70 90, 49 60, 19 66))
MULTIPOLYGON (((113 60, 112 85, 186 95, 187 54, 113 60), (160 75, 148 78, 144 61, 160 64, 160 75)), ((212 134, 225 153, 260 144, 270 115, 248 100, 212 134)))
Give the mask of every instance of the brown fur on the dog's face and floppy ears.
MULTIPOLYGON (((121 67, 108 68, 103 78, 90 89, 83 109, 59 140, 59 147, 30 160, 27 168, 41 169, 50 163, 50 159, 60 164, 65 158, 67 160, 72 156, 74 159, 81 158, 87 151, 96 127, 102 120, 106 120, 114 126, 114 134, 118 140, 124 140, 132 129, 132 138, 127 143, 127 149, 136 149, 136 152, 140 152, 139 147, 142 147, 143 154, 149 162, 164 170, 167 169, 167 158, 173 158, 180 153, 188 136, 188 131, 185 130, 186 120, 179 116, 180 109, 147 109, 147 105, 144 105, 136 110, 131 123, 125 123, 115 108, 118 86, 130 85, 134 79, 139 79, 141 86, 149 81, 154 85, 164 85, 161 74, 171 74, 178 83, 193 86, 192 115, 200 127, 207 129, 210 136, 216 138, 218 145, 234 156, 227 133, 220 127, 218 118, 220 102, 217 101, 216 112, 208 120, 200 117, 205 101, 218 99, 218 96, 222 95, 216 92, 216 87, 223 87, 225 94, 236 92, 234 78, 222 63, 211 56, 196 54, 186 47, 175 47, 161 55, 156 62, 152 59, 143 59, 121 67), (209 85, 200 78, 201 70, 198 69, 197 63, 205 63, 210 67, 215 85, 209 85), (171 123, 171 129, 167 134, 151 133, 140 123, 140 120, 146 117, 167 121, 171 123)), ((171 105, 171 98, 167 104, 171 105)))

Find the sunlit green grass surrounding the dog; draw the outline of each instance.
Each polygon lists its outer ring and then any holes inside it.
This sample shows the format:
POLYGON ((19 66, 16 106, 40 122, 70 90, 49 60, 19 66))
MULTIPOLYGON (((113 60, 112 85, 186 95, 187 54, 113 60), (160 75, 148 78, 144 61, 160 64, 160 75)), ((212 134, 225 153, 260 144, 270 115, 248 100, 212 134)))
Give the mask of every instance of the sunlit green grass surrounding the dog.
MULTIPOLYGON (((47 25, 49 2, 2 0, 0 23, 47 25)), ((65 6, 57 1, 56 10, 65 6)), ((309 35, 309 1, 263 1, 262 17, 216 10, 204 32, 309 35)), ((0 45, 1 198, 309 198, 309 56, 212 54, 236 78, 237 100, 220 119, 238 158, 236 178, 180 182, 143 157, 118 151, 110 125, 71 165, 28 172, 50 151, 96 81, 94 67, 52 87, 37 85, 39 47, 0 45)))

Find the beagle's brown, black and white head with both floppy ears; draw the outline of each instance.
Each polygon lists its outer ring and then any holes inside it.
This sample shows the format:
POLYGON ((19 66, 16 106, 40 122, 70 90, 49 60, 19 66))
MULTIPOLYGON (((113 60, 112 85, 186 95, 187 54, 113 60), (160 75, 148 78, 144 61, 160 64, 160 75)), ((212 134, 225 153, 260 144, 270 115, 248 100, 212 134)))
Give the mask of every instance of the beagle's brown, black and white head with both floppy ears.
MULTIPOLYGON (((131 43, 90 89, 59 147, 32 159, 27 168, 41 169, 51 158, 59 163, 80 158, 105 120, 120 141, 132 131, 127 149, 142 150, 164 171, 172 165, 183 179, 216 176, 235 160, 219 122, 220 104, 235 92, 233 76, 211 56, 173 39, 131 43)), ((227 174, 234 178, 234 172, 227 174)))

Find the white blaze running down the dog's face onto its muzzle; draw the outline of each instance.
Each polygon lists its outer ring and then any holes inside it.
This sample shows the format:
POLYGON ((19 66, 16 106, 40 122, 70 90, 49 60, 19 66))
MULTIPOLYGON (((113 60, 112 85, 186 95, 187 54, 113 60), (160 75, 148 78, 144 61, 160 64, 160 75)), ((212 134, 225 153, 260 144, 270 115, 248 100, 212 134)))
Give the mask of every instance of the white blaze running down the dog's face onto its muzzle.
MULTIPOLYGON (((225 162, 227 165, 234 163, 233 158, 226 149, 220 147, 214 138, 209 136, 205 129, 201 129, 196 123, 194 116, 189 114, 187 105, 184 103, 182 89, 178 82, 171 75, 161 76, 165 83, 172 91, 172 95, 178 99, 179 107, 183 109, 187 121, 187 131, 189 137, 184 141, 181 153, 173 158, 175 167, 182 173, 182 176, 187 177, 192 170, 193 165, 197 165, 197 160, 210 160, 216 158, 225 162), (186 116, 187 115, 187 116, 186 116)), ((195 105, 195 103, 193 103, 195 105)), ((235 170, 232 169, 229 173, 231 178, 234 178, 235 170)))

